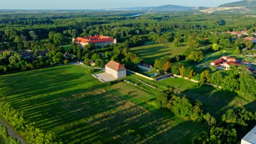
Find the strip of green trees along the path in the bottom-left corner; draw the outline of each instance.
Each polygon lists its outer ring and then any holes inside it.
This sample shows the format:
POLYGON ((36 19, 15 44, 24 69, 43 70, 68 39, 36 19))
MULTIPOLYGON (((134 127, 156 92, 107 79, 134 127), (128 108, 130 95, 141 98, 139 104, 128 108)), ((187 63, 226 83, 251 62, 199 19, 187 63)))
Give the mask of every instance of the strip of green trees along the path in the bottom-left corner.
POLYGON ((15 110, 4 97, 1 98, 0 113, 17 131, 24 134, 29 143, 62 143, 54 133, 45 133, 43 130, 36 128, 35 123, 28 123, 22 113, 15 110))

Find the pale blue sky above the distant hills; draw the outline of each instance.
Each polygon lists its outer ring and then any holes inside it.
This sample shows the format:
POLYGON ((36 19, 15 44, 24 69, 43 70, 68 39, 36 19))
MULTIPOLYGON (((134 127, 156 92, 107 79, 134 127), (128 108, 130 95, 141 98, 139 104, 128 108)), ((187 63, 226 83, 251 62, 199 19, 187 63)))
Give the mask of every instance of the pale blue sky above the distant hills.
MULTIPOLYGON (((235 0, 240 1, 240 0, 235 0)), ((218 7, 234 0, 1 0, 0 9, 110 9, 148 7, 166 4, 192 7, 218 7)))

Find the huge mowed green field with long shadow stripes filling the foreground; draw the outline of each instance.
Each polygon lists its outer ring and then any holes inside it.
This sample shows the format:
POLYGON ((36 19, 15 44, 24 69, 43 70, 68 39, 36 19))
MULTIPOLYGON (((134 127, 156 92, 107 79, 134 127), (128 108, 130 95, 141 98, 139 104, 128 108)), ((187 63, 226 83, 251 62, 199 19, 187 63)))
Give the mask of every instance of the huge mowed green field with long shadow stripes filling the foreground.
MULTIPOLYGON (((156 91, 65 65, 0 76, 0 93, 64 143, 191 143, 203 127, 147 104, 156 91)), ((97 72, 98 73, 98 72, 97 72)))

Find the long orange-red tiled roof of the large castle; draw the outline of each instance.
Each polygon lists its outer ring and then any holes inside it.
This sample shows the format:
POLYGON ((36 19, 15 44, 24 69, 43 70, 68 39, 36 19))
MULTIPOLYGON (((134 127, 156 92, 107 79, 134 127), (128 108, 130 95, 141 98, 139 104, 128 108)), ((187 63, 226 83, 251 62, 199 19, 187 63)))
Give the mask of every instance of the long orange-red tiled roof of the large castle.
POLYGON ((80 43, 103 43, 107 41, 114 41, 114 39, 103 35, 95 35, 90 37, 78 37, 77 41, 80 43))

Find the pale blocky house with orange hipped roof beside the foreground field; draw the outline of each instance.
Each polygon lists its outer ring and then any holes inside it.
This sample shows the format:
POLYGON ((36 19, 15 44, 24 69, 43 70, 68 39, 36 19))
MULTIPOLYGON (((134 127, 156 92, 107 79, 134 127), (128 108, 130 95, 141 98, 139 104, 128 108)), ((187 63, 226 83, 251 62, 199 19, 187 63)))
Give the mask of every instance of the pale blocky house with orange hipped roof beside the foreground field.
POLYGON ((119 79, 126 76, 126 68, 118 62, 109 61, 106 65, 106 73, 119 79))

